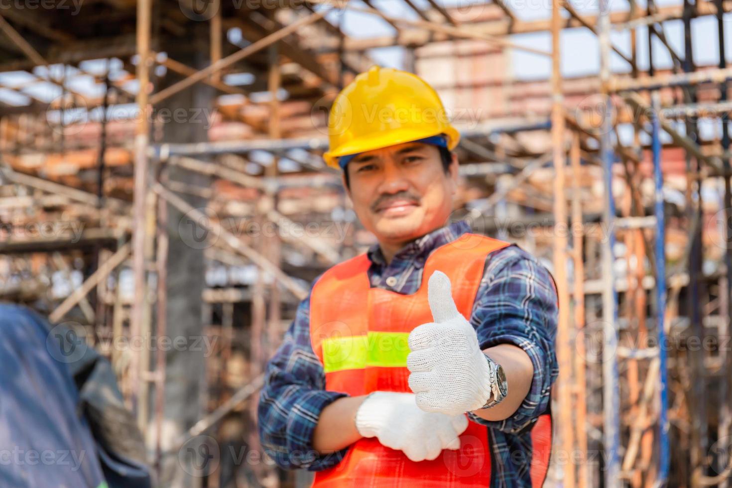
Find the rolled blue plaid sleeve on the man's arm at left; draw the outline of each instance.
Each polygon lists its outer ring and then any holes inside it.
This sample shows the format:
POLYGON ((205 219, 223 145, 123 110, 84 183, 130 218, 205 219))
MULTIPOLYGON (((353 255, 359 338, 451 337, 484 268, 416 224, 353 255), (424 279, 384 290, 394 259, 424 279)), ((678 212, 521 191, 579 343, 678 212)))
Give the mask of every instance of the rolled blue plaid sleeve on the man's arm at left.
POLYGON ((318 454, 313 449, 313 432, 321 411, 345 396, 325 390, 323 365, 310 344, 308 295, 266 367, 258 405, 259 438, 266 454, 283 469, 319 471, 336 465, 348 448, 318 454))

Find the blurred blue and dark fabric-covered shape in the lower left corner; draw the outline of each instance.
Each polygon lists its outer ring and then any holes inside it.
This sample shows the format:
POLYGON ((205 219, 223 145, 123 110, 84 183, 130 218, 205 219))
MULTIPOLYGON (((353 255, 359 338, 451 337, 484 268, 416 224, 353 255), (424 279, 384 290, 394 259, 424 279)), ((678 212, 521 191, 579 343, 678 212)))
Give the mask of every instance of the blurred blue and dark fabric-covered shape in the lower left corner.
POLYGON ((14 304, 0 304, 0 335, 0 487, 150 487, 109 361, 14 304))

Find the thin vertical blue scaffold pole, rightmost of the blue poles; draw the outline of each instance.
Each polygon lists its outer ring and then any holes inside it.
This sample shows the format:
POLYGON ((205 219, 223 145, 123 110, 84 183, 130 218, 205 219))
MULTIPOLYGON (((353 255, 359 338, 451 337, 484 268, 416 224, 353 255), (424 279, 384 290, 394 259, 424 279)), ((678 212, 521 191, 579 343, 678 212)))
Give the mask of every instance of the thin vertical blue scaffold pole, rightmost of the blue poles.
POLYGON ((656 203, 654 213, 656 214, 656 314, 658 334, 658 359, 660 374, 660 399, 661 408, 659 413, 659 470, 658 483, 664 485, 668 479, 669 445, 668 445, 668 376, 666 374, 666 348, 665 348, 665 325, 663 322, 666 311, 666 253, 665 253, 665 225, 663 219, 663 173, 661 171, 661 139, 658 121, 658 110, 660 108, 658 92, 652 95, 651 109, 651 136, 653 141, 653 179, 656 184, 656 203))

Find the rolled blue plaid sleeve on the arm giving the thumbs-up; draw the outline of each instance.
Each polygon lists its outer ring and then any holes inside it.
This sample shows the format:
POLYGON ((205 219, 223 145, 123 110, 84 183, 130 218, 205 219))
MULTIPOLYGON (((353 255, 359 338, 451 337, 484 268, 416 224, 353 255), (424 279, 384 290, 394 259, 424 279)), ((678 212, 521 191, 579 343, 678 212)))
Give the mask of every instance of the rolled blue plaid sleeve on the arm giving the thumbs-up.
POLYGON ((548 269, 518 246, 488 257, 471 315, 480 347, 518 346, 531 358, 534 378, 512 416, 487 421, 468 413, 471 420, 516 434, 547 410, 550 388, 559 374, 554 349, 558 308, 552 281, 548 269))

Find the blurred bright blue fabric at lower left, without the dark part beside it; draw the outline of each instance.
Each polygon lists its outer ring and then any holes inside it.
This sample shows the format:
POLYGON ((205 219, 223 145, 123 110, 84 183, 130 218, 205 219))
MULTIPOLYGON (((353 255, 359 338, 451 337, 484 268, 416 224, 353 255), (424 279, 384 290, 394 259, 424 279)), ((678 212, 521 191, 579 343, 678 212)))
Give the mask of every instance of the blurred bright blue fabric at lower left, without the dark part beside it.
POLYGON ((105 486, 66 351, 45 320, 0 304, 0 334, 0 487, 105 486))

